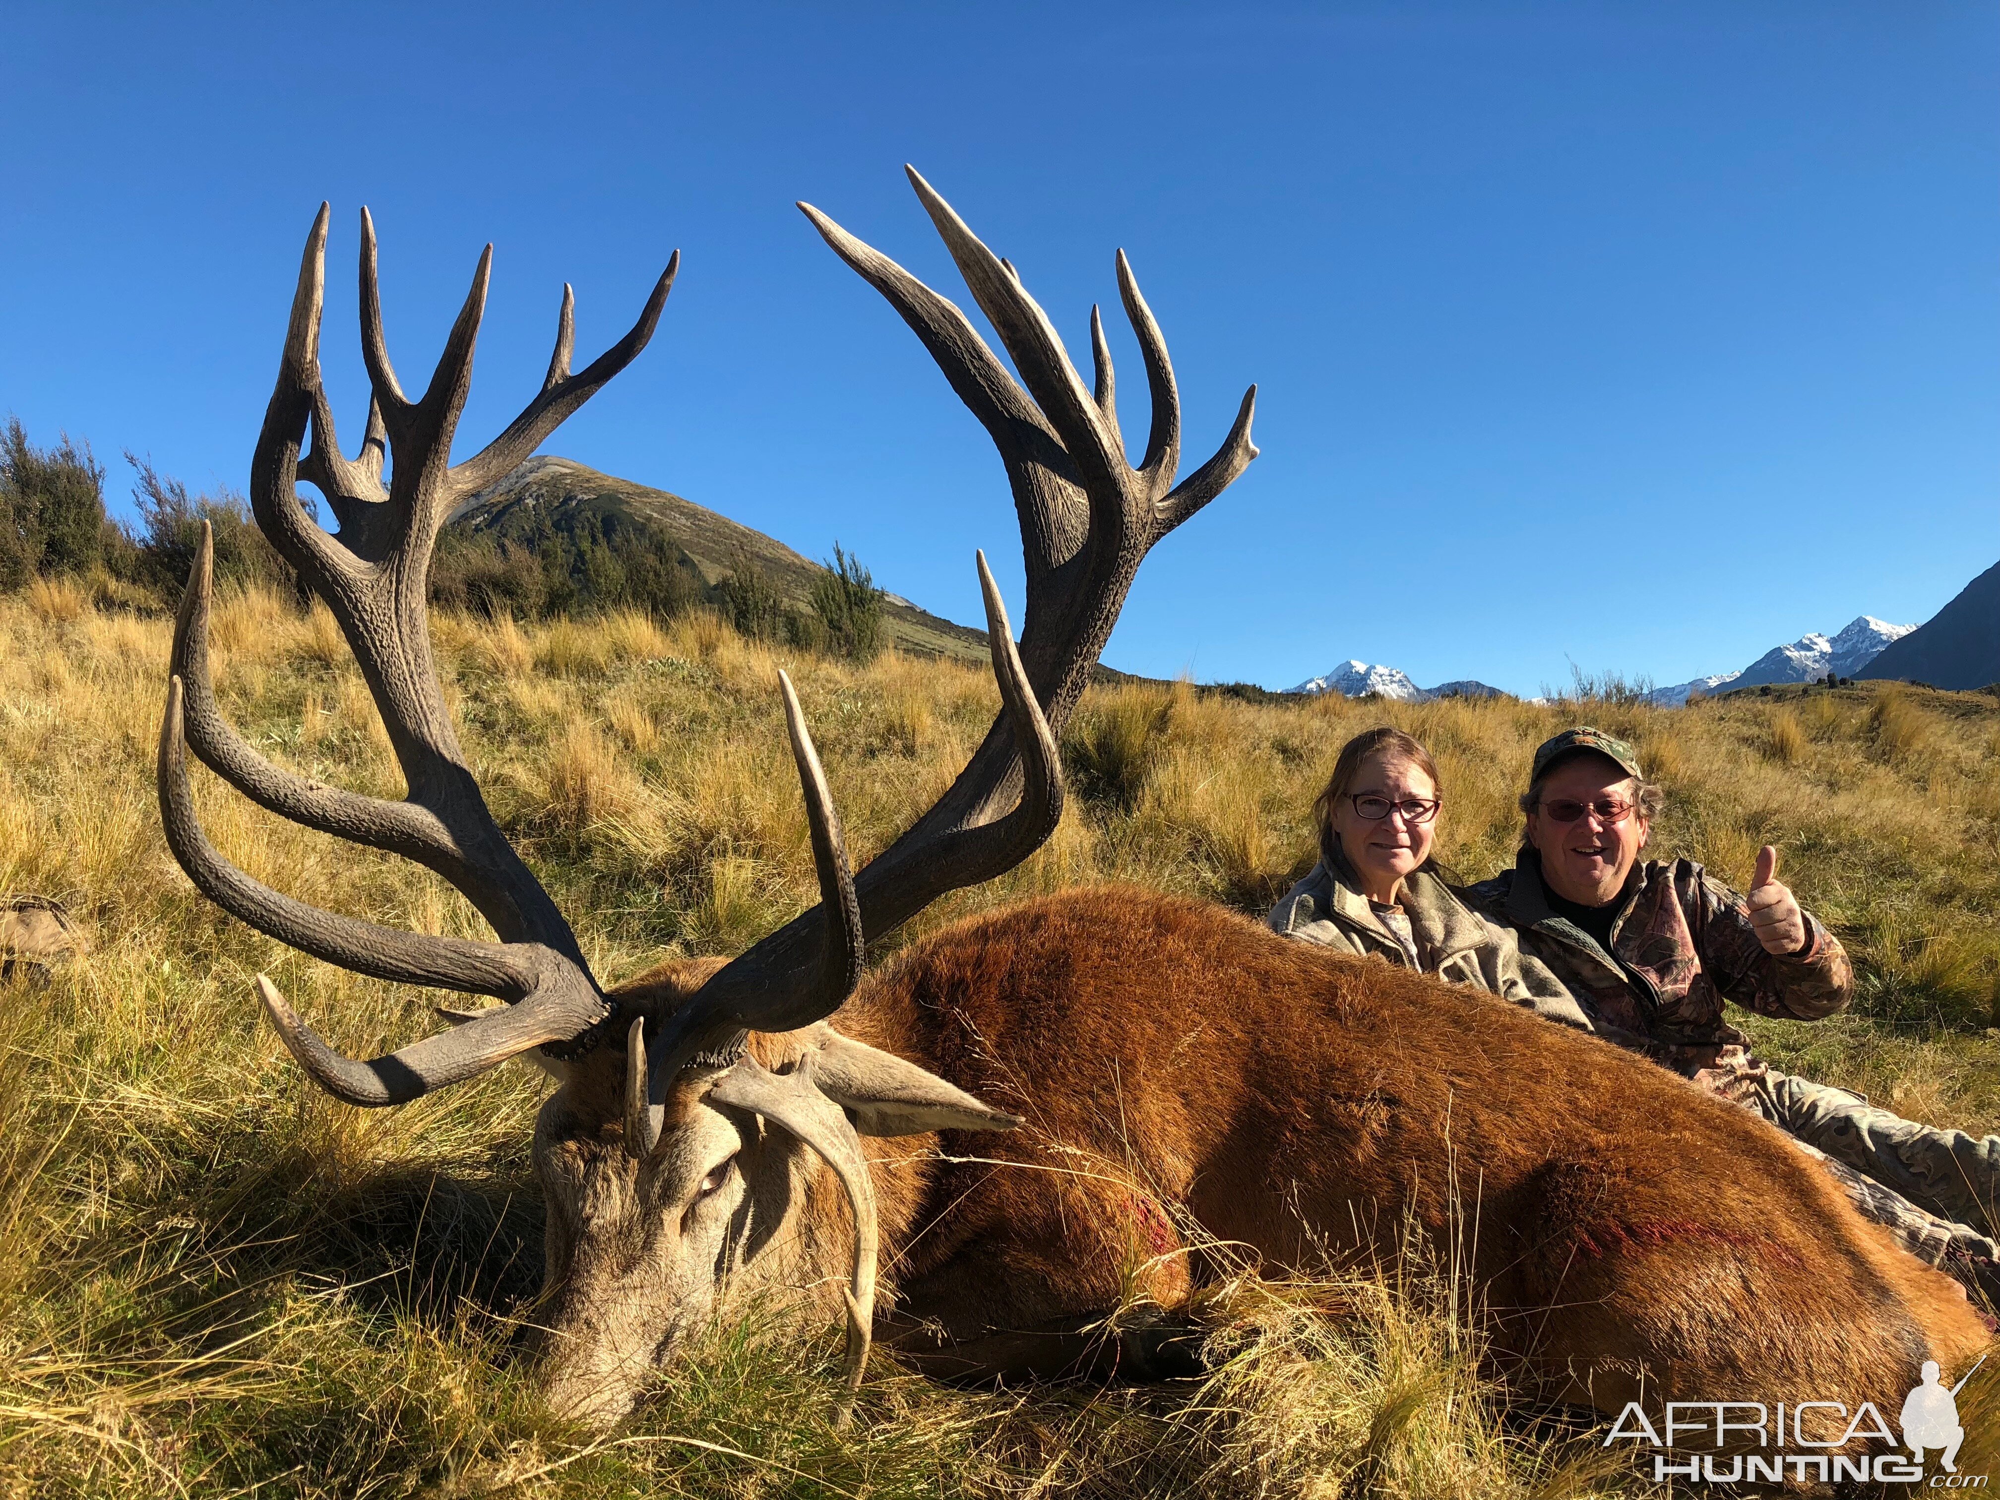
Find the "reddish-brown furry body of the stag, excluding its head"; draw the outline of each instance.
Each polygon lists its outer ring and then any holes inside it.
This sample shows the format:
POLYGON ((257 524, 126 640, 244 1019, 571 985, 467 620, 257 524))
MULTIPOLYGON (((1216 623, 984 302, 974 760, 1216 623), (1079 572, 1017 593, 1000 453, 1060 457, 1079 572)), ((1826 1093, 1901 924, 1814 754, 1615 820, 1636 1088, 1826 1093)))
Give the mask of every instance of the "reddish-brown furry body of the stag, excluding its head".
MULTIPOLYGON (((620 994, 670 1008, 702 968, 620 994)), ((1748 1112, 1216 906, 1098 888, 972 918, 834 1026, 1026 1116, 866 1142, 884 1330, 936 1368, 1052 1372, 1076 1352, 1058 1330, 1134 1294, 1178 1308, 1212 1270, 1182 1226, 1270 1270, 1384 1264, 1412 1226, 1456 1242, 1500 1360, 1604 1410, 1640 1380, 1666 1400, 1898 1402, 1922 1360, 1964 1370, 1986 1342, 1952 1280, 1748 1112)), ((754 1050, 784 1066, 790 1042, 754 1050)), ((566 1092, 614 1132, 612 1062, 566 1092)), ((844 1204, 814 1188, 802 1242, 836 1278, 824 1218, 844 1204)))

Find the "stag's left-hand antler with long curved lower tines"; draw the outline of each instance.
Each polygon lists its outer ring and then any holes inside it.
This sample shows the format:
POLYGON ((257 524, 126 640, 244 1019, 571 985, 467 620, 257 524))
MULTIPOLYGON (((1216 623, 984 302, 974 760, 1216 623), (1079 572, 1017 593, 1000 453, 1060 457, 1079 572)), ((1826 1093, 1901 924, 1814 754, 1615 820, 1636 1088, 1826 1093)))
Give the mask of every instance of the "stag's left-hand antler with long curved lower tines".
POLYGON ((320 204, 298 272, 278 386, 250 466, 250 502, 258 526, 340 622, 388 728, 408 796, 384 802, 320 786, 260 756, 222 720, 208 680, 212 540, 204 530, 174 632, 160 726, 160 814, 168 844, 194 884, 260 932, 362 974, 510 1002, 392 1056, 354 1062, 326 1048, 260 976, 272 1022, 322 1086, 352 1104, 400 1104, 532 1046, 574 1042, 610 1016, 568 922, 500 832, 466 766, 432 660, 426 578, 432 544, 450 512, 528 458, 646 348, 674 286, 680 252, 668 260, 632 330, 578 374, 570 374, 574 300, 564 288, 556 352, 540 394, 494 442, 452 466, 492 246, 480 256, 430 388, 412 402, 388 360, 374 224, 362 210, 362 352, 374 394, 360 454, 346 458, 334 436, 318 358, 326 220, 326 204, 320 204), (308 424, 312 448, 300 456, 308 424), (394 452, 394 466, 384 486, 388 452, 394 452), (322 490, 338 532, 328 534, 306 514, 296 488, 300 478, 322 490), (500 942, 394 932, 314 910, 252 880, 204 838, 194 818, 184 746, 230 786, 284 818, 430 866, 464 892, 500 942))

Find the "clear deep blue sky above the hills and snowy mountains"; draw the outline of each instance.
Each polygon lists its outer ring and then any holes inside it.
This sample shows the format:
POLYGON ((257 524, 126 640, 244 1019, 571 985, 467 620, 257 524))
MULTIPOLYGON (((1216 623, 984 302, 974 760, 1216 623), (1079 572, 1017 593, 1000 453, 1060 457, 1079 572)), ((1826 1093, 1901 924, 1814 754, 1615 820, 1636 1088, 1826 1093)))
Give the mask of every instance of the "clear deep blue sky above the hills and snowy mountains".
MULTIPOLYGON (((1070 350, 1124 246, 1188 460, 1264 456, 1146 562, 1106 660, 1288 686, 1676 682, 2000 556, 1990 4, 10 6, 0 410, 244 484, 334 204, 422 384, 480 246, 460 452, 670 250, 652 348, 550 444, 978 618, 1020 600, 984 432, 792 208, 970 306, 914 162, 1070 350)), ((1124 426, 1144 382, 1122 318, 1124 426)))

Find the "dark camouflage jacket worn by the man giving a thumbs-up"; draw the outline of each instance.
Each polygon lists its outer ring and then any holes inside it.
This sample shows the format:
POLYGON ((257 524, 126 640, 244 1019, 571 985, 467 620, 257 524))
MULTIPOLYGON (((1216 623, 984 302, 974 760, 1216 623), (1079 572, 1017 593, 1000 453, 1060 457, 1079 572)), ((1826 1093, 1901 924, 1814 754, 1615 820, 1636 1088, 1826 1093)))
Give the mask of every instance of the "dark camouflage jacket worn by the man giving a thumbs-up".
POLYGON ((1806 916, 1798 956, 1768 954, 1744 898, 1692 860, 1652 860, 1632 872, 1610 952, 1550 908, 1534 850, 1464 896, 1520 934, 1522 954, 1556 972, 1600 1034, 1730 1100, 1750 1094, 1766 1068, 1724 1018, 1724 1000, 1820 1020, 1854 996, 1848 954, 1816 918, 1806 916))

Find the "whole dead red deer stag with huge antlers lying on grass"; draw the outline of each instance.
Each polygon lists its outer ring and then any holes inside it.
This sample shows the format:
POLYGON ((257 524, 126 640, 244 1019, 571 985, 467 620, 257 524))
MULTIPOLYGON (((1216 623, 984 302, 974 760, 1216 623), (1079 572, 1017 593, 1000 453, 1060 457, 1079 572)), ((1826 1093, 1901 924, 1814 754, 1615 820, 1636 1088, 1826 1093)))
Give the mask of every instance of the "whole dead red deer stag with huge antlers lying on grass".
POLYGON ((260 976, 298 1062, 352 1104, 402 1104, 528 1052, 560 1078, 534 1144, 548 1196, 552 1402, 616 1420, 724 1286, 810 1288, 834 1312, 842 1280, 848 1400, 878 1326, 940 1372, 1144 1374, 1174 1354, 1162 1334, 1172 1324, 1112 1334, 1118 1320, 1106 1318, 1186 1302, 1210 1262, 1184 1232, 1274 1268, 1328 1254, 1366 1264, 1394 1256, 1412 1222, 1456 1234, 1460 1188, 1464 1212, 1478 1214, 1472 1276, 1498 1354, 1542 1392, 1618 1410, 1652 1380, 1674 1400, 1854 1406, 1900 1398, 1924 1358, 1962 1368, 1984 1326, 1956 1284, 1860 1220, 1776 1130, 1488 996, 1140 890, 972 918, 862 978, 864 936, 1008 870, 1054 830, 1056 734, 1140 560, 1256 456, 1252 388, 1222 450, 1174 484, 1174 372, 1120 256, 1152 392, 1134 468, 1096 314, 1092 390, 1014 268, 910 180, 1018 384, 952 302, 804 212, 916 330, 1000 448, 1028 562, 1024 632, 1016 650, 982 558, 1002 714, 936 806, 858 876, 782 682, 822 900, 742 956, 598 986, 480 798, 424 622, 442 518, 638 354, 672 264, 638 326, 576 376, 566 296, 542 394, 452 468, 488 262, 430 390, 410 402, 384 350, 364 218, 374 406, 362 456, 348 460, 316 360, 324 210, 314 226, 252 498, 354 648, 408 780, 404 802, 262 760, 210 690, 206 550, 182 604, 160 802, 194 884, 326 962, 506 1002, 448 1012, 456 1030, 356 1062, 260 976), (396 456, 388 490, 384 440, 396 456), (298 478, 328 496, 338 534, 306 518, 298 478), (424 862, 498 942, 392 932, 250 880, 196 826, 184 746, 286 818, 424 862), (880 1322, 878 1256, 894 1286, 880 1322))

